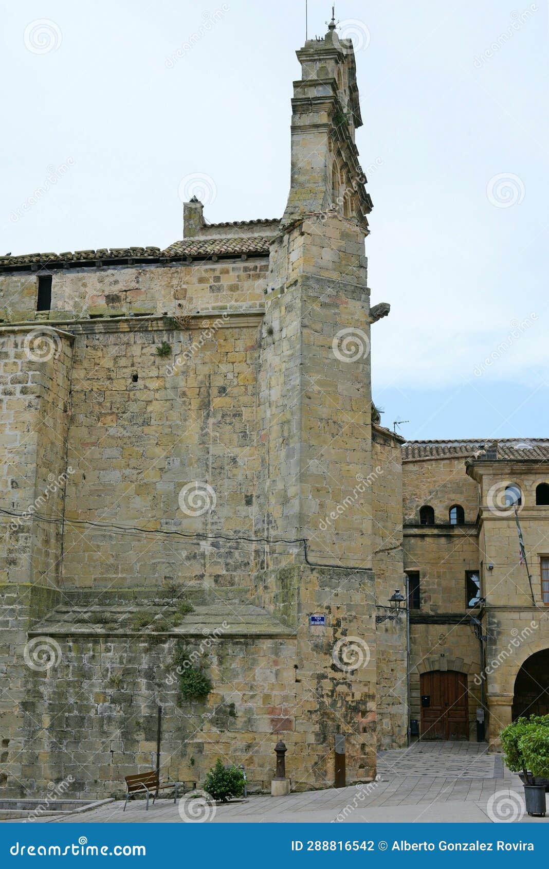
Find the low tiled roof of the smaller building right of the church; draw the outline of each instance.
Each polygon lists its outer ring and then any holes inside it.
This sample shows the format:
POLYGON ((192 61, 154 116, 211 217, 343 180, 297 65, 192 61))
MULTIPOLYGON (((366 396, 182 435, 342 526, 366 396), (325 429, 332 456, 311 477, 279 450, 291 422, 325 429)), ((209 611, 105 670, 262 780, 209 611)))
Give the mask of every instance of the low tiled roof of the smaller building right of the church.
POLYGON ((549 461, 549 438, 478 438, 467 441, 407 441, 402 459, 477 458, 480 461, 549 461), (496 447, 494 454, 491 445, 496 447))

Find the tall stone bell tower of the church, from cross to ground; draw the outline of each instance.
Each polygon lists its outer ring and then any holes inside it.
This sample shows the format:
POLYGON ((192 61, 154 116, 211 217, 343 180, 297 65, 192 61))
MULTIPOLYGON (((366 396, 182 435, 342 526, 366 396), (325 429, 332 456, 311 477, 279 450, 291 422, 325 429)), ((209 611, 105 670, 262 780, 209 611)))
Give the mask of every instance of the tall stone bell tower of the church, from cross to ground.
POLYGON ((342 737, 349 780, 375 772, 371 317, 364 255, 372 202, 354 144, 361 120, 352 43, 339 39, 332 21, 326 36, 308 40, 297 57, 290 191, 270 246, 261 332, 265 514, 257 533, 307 544, 304 552, 296 542, 293 559, 269 550, 261 600, 295 628, 301 760, 326 784, 342 737), (350 666, 341 660, 347 655, 350 666))

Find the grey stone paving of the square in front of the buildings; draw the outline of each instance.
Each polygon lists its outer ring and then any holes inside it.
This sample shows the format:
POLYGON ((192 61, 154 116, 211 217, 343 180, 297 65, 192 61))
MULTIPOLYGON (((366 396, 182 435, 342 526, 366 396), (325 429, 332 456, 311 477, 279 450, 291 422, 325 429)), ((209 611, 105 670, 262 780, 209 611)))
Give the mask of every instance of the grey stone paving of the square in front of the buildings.
MULTIPOLYGON (((377 782, 337 790, 290 793, 287 797, 251 796, 227 806, 216 806, 211 820, 215 823, 493 823, 493 809, 489 808, 488 801, 497 793, 499 801, 503 799, 504 812, 506 806, 518 806, 514 819, 544 823, 546 819, 522 814, 523 791, 519 778, 506 770, 499 756, 486 755, 486 748, 486 745, 466 742, 417 742, 408 749, 381 752, 377 782)), ((159 800, 149 807, 149 812, 145 812, 141 800, 130 802, 125 813, 122 808, 123 802, 116 801, 79 816, 66 815, 49 822, 182 823, 178 806, 169 799, 159 800)))

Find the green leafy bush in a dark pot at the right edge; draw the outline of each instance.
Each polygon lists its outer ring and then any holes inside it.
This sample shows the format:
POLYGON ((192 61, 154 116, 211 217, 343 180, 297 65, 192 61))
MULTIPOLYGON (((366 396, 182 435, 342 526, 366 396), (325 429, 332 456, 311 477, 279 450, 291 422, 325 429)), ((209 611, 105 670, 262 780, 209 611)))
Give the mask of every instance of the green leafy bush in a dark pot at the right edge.
POLYGON ((549 715, 518 718, 501 732, 506 765, 519 773, 524 784, 528 814, 546 813, 546 779, 549 775, 549 715), (537 733, 534 740, 530 736, 537 733), (544 740, 547 740, 544 742, 544 740), (533 768, 532 768, 533 762, 533 768), (538 778, 537 778, 538 777, 538 778))

